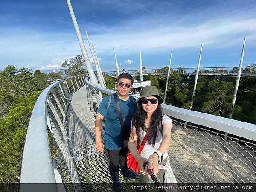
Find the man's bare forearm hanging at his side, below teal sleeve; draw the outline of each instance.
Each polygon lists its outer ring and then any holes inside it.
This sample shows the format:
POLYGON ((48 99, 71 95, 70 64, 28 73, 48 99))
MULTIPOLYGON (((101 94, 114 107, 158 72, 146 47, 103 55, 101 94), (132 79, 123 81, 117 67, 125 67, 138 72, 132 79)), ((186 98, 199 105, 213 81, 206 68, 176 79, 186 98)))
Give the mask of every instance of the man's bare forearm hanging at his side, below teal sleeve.
POLYGON ((96 142, 96 150, 99 152, 104 152, 104 145, 101 140, 101 130, 102 130, 102 121, 104 116, 100 113, 97 113, 96 120, 95 120, 95 142, 96 142))

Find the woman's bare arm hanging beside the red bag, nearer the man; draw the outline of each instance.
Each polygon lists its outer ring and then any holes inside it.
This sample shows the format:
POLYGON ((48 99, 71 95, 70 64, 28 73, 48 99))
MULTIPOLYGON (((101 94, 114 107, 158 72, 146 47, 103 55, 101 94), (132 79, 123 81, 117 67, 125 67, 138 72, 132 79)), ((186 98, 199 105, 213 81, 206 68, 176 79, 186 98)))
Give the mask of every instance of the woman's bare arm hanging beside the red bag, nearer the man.
POLYGON ((131 134, 130 134, 129 143, 128 143, 129 151, 132 154, 132 156, 134 156, 134 158, 139 163, 140 172, 143 175, 146 175, 145 174, 145 169, 144 169, 144 162, 147 162, 148 160, 146 158, 143 159, 140 156, 140 154, 138 152, 138 149, 136 148, 136 143, 137 143, 136 130, 131 128, 131 134))

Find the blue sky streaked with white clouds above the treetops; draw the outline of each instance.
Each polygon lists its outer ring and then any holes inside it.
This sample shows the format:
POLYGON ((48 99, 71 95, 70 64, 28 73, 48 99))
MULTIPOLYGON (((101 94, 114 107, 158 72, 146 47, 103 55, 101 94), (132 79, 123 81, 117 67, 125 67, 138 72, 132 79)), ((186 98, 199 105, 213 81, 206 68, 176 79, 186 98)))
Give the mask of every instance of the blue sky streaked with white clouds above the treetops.
MULTIPOLYGON (((71 0, 89 57, 85 30, 103 71, 244 66, 256 63, 256 0, 71 0), (125 63, 132 60, 131 64, 125 63), (122 69, 121 69, 122 70, 122 69)), ((0 6, 0 70, 7 65, 58 70, 81 50, 66 0, 5 0, 0 6)), ((95 68, 93 66, 93 68, 95 68)))

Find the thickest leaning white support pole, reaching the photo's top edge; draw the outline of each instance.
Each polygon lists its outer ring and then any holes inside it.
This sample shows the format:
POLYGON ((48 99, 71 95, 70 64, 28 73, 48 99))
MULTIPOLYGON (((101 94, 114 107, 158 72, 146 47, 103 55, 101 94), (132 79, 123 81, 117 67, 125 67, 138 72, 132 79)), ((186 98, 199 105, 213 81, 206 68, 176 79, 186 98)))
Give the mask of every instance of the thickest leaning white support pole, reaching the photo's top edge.
POLYGON ((87 68, 87 72, 90 76, 90 81, 93 84, 98 84, 97 81, 96 81, 96 77, 94 75, 93 68, 92 68, 92 65, 90 63, 87 51, 85 49, 84 41, 82 39, 81 32, 80 32, 79 26, 77 24, 76 17, 75 17, 72 5, 70 3, 70 0, 67 0, 67 6, 68 6, 68 9, 70 11, 70 15, 71 15, 71 18, 72 18, 72 21, 73 21, 73 24, 74 24, 74 27, 75 27, 75 30, 76 30, 76 35, 77 35, 78 42, 79 42, 79 45, 80 45, 80 48, 81 48, 81 51, 82 51, 82 54, 83 54, 83 57, 84 57, 84 62, 85 62, 86 68, 87 68))

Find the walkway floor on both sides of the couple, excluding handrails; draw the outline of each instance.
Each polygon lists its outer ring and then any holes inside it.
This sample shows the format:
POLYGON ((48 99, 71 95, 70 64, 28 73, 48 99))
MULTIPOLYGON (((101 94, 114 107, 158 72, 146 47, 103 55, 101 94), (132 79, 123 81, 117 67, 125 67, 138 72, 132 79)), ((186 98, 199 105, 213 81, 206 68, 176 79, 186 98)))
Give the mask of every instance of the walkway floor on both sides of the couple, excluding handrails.
MULTIPOLYGON (((73 94, 67 114, 76 169, 81 183, 111 183, 108 156, 96 151, 94 123, 86 89, 81 87, 73 94)), ((255 144, 248 146, 232 138, 224 142, 221 134, 201 128, 183 129, 174 122, 168 153, 178 183, 256 183, 255 148, 255 144)), ((120 180, 131 182, 122 177, 120 180)))

